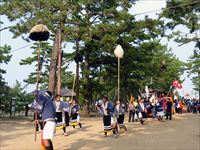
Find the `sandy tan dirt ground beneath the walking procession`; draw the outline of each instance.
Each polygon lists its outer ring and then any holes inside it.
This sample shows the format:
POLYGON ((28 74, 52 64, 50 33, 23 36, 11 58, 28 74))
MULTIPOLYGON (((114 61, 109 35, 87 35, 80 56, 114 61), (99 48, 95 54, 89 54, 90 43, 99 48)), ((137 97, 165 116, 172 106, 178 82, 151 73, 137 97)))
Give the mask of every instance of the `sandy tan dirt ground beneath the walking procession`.
MULTIPOLYGON (((81 118, 83 128, 56 131, 55 150, 200 150, 200 114, 176 114, 172 120, 148 118, 125 125, 128 133, 104 137, 101 117, 81 118)), ((31 121, 0 121, 0 150, 39 150, 40 133, 34 141, 31 121)))

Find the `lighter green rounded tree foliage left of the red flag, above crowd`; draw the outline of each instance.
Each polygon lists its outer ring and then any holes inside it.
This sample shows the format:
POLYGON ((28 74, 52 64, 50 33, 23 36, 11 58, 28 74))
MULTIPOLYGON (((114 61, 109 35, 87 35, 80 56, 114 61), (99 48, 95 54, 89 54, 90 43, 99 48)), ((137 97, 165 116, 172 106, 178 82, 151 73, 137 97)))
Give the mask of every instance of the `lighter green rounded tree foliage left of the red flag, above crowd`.
POLYGON ((154 54, 151 69, 153 83, 150 84, 159 91, 167 92, 171 83, 183 73, 183 62, 179 61, 166 46, 159 46, 154 54))

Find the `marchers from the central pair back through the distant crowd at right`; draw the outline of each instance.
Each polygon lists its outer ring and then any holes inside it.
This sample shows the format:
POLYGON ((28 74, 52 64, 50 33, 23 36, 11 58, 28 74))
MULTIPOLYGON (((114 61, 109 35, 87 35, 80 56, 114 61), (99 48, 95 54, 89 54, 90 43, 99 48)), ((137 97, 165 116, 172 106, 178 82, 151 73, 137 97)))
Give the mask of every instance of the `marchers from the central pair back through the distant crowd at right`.
POLYGON ((104 96, 96 104, 98 112, 103 115, 104 133, 107 136, 109 130, 113 131, 114 137, 120 133, 120 129, 127 128, 124 124, 125 112, 128 112, 128 122, 140 122, 142 125, 147 118, 158 119, 159 121, 172 120, 172 115, 183 112, 200 113, 200 100, 196 99, 174 99, 167 94, 152 94, 149 98, 138 96, 137 99, 131 96, 125 105, 122 101, 112 103, 104 96), (127 106, 127 107, 126 107, 127 106))

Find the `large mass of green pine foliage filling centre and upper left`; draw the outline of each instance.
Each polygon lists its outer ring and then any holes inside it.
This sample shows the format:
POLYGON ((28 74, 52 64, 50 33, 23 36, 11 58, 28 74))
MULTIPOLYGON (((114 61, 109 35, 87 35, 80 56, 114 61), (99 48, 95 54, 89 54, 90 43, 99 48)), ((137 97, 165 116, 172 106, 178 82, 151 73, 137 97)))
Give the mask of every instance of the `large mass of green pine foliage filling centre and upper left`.
MULTIPOLYGON (((92 102, 106 94, 110 98, 116 96, 117 87, 117 59, 114 49, 120 44, 124 49, 124 58, 121 59, 121 90, 124 100, 127 95, 137 95, 139 89, 149 84, 150 78, 165 85, 154 82, 152 87, 166 90, 172 79, 180 76, 181 62, 178 61, 165 46, 159 43, 158 35, 162 34, 163 21, 150 19, 136 21, 128 9, 134 0, 33 0, 2 2, 0 14, 4 14, 16 25, 10 27, 15 37, 24 36, 31 27, 41 21, 51 30, 54 38, 57 29, 62 32, 62 41, 75 43, 79 47, 74 50, 83 56, 80 78, 80 99, 92 102), (15 8, 15 9, 14 9, 15 8), (14 13, 16 12, 16 13, 14 13), (165 60, 167 69, 161 73, 161 63, 165 60), (176 64, 176 65, 174 65, 176 64), (176 72, 176 73, 174 73, 176 72)), ((75 45, 75 44, 74 44, 75 45)), ((22 60, 21 64, 32 64, 37 60, 37 45, 34 45, 33 56, 22 60)), ((52 47, 46 43, 41 46, 41 53, 46 58, 52 47)), ((76 54, 63 55, 62 85, 72 87, 73 76, 67 72, 69 62, 76 54)), ((41 82, 46 83, 50 68, 49 63, 44 66, 41 82)), ((35 83, 36 72, 30 74, 27 83, 35 83)), ((45 84, 42 86, 46 86, 45 84)))

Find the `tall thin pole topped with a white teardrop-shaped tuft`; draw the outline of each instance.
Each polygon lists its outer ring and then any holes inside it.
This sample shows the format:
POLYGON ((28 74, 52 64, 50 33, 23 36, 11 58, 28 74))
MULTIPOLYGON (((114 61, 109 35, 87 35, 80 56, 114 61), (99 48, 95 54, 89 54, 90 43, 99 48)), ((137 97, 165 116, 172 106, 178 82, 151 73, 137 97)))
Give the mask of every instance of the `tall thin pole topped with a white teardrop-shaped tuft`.
POLYGON ((119 91, 120 91, 120 58, 123 58, 124 50, 122 49, 121 45, 117 45, 117 47, 114 50, 114 54, 118 59, 118 89, 117 89, 117 98, 118 101, 120 99, 119 97, 119 91))

